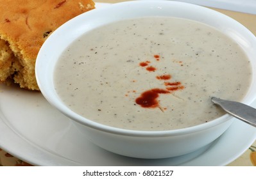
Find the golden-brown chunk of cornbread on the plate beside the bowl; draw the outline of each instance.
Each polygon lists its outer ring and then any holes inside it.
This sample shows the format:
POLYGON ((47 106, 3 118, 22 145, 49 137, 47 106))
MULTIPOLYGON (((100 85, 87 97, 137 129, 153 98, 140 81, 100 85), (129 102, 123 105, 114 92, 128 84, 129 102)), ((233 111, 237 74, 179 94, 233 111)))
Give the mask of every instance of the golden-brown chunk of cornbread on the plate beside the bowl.
POLYGON ((0 81, 39 90, 35 61, 47 36, 95 8, 91 0, 0 0, 0 81))

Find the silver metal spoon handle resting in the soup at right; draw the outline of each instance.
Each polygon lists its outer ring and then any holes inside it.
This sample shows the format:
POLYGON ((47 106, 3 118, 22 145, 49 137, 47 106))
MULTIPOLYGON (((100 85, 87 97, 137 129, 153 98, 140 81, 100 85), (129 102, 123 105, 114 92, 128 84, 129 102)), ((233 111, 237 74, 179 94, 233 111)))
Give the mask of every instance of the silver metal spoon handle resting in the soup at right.
POLYGON ((222 109, 234 116, 235 118, 244 121, 256 127, 256 109, 241 102, 234 102, 230 100, 222 100, 220 98, 212 97, 212 102, 219 105, 222 109))

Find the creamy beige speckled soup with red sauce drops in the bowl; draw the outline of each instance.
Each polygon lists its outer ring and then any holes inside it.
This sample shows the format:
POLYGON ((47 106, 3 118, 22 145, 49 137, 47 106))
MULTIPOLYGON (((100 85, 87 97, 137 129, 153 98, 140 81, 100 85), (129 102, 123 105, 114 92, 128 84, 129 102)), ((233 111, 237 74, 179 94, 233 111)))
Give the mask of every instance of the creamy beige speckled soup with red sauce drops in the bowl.
POLYGON ((114 22, 75 40, 56 65, 55 88, 73 111, 132 130, 191 127, 225 114, 210 97, 241 100, 250 61, 237 43, 192 20, 114 22))

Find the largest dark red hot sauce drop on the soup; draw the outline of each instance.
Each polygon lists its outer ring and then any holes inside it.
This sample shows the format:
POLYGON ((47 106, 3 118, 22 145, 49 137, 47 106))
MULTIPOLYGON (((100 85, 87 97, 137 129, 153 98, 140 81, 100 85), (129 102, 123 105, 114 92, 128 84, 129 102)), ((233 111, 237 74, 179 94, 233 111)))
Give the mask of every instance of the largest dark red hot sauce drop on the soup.
POLYGON ((149 89, 148 91, 144 91, 144 93, 141 94, 140 97, 138 97, 135 102, 141 107, 149 107, 149 108, 155 108, 159 107, 157 98, 159 97, 159 94, 166 94, 170 93, 169 91, 165 89, 149 89))

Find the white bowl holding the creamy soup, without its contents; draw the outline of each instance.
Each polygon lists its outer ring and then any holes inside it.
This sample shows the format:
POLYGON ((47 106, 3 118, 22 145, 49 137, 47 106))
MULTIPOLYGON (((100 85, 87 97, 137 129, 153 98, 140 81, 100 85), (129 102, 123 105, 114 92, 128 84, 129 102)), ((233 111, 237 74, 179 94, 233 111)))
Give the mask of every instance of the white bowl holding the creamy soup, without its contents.
MULTIPOLYGON (((37 57, 36 77, 46 99, 69 116, 92 143, 129 157, 159 159, 193 152, 217 139, 231 125, 234 118, 225 114, 202 125, 165 131, 139 131, 109 127, 74 113, 58 97, 53 82, 55 65, 60 54, 76 38, 87 31, 115 20, 141 16, 171 16, 196 20, 216 27, 241 45, 252 64, 253 79, 243 99, 250 105, 256 91, 256 38, 239 22, 214 10, 175 1, 128 1, 99 8, 65 23, 46 40, 37 57)), ((50 125, 50 124, 49 124, 50 125)))

